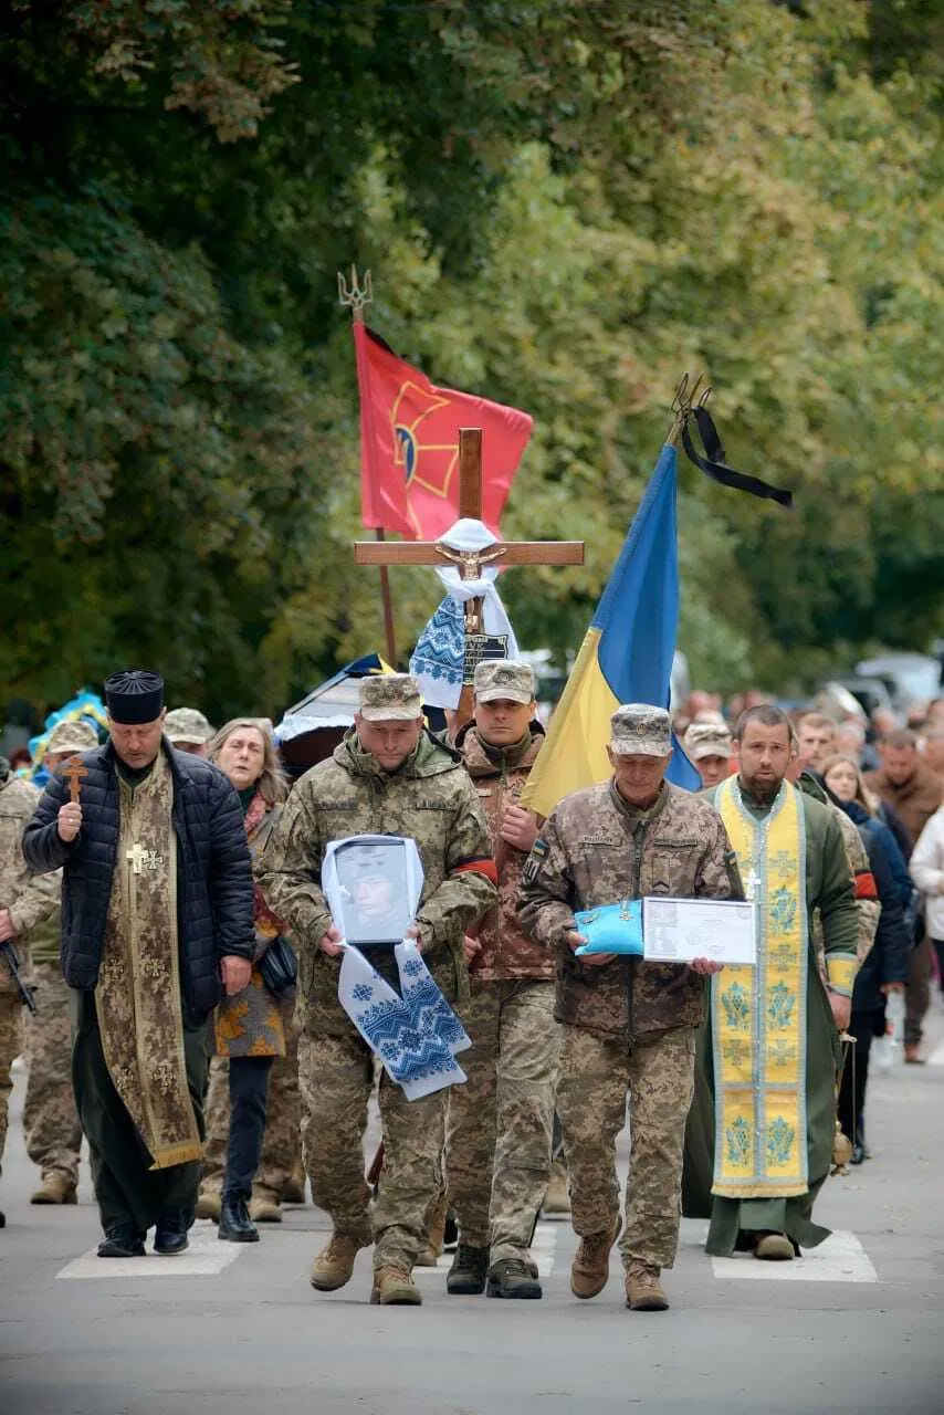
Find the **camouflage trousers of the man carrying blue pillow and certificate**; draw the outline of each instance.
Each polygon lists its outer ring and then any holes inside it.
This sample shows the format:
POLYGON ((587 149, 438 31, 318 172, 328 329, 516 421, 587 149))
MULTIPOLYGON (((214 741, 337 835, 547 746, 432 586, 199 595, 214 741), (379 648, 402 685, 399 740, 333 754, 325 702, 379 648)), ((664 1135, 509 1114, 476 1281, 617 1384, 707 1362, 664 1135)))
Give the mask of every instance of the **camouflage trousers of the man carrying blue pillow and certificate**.
POLYGON ((630 1176, 620 1249, 671 1268, 678 1248, 685 1121, 695 1090, 695 1030, 626 1041, 563 1027, 558 1111, 570 1172, 575 1231, 609 1232, 620 1213, 616 1138, 630 1098, 630 1176))

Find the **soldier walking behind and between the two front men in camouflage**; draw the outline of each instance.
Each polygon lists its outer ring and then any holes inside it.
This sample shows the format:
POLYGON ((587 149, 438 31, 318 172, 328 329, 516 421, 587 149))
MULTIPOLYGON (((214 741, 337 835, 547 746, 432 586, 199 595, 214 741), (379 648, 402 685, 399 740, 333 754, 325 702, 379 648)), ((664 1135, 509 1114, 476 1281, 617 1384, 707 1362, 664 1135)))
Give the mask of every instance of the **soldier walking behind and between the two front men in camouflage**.
POLYGON ((539 1298, 528 1245, 551 1174, 559 1027, 555 965, 515 914, 521 870, 538 822, 518 804, 541 744, 528 664, 476 668, 476 719, 456 747, 485 811, 498 869, 498 906, 468 941, 471 996, 463 1020, 466 1085, 449 1097, 446 1174, 459 1248, 446 1288, 493 1298, 539 1298), (490 1265, 491 1258, 491 1265, 490 1265))

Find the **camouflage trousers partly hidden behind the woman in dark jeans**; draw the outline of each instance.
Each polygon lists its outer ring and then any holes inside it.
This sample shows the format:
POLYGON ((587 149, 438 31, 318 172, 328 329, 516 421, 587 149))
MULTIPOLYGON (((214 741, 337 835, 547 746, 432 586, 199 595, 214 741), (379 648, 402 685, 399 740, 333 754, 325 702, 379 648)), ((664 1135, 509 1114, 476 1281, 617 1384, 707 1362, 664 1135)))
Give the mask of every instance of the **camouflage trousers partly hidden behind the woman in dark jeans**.
MULTIPOLYGON (((289 1009, 290 1005, 286 1005, 289 1009)), ((292 1173, 301 1163, 301 1104, 299 1099, 299 1029, 286 1010, 283 1057, 276 1057, 269 1073, 266 1098, 266 1133, 262 1140, 259 1173, 252 1184, 253 1199, 282 1203, 292 1173)), ((219 1193, 226 1167, 229 1140, 229 1060, 214 1057, 209 1063, 209 1088, 204 1108, 207 1143, 201 1191, 219 1193)))

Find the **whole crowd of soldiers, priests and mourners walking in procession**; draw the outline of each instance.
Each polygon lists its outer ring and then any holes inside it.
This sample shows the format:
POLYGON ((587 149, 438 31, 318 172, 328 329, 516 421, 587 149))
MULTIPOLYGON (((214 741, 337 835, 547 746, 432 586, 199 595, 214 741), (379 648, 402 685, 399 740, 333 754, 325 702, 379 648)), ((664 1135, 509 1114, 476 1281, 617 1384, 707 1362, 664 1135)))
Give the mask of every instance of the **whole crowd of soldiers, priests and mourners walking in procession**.
MULTIPOLYGON (((214 732, 146 671, 112 675, 105 702, 103 741, 52 729, 42 794, 0 766, 0 944, 35 999, 31 1201, 76 1201, 85 1136, 102 1258, 143 1254, 150 1230, 183 1252, 195 1217, 258 1241, 306 1180, 331 1220, 311 1285, 345 1286, 372 1247, 382 1305, 420 1302, 447 1215, 449 1293, 541 1298, 543 1204, 570 1211, 577 1298, 620 1241, 631 1310, 668 1306, 682 1213, 715 1254, 793 1261, 827 1237, 836 1116, 862 1163, 873 1040, 903 1000, 921 1064, 934 949, 944 976, 944 699, 904 727, 763 695, 725 713, 692 693, 674 717, 627 703, 610 780, 546 819, 521 801, 543 750, 526 664, 480 664, 471 716, 440 734, 409 675, 361 679, 354 726, 294 785, 265 719, 214 732), (678 743, 701 792, 669 780, 678 743), (409 934, 471 1041, 466 1082, 422 1098, 338 996, 323 866, 362 833, 416 842, 409 934), (654 962, 618 923, 590 947, 577 916, 652 896, 752 903, 756 964, 654 962)), ((371 964, 398 986, 392 947, 371 964)), ((0 1155, 21 995, 0 964, 0 1155)))

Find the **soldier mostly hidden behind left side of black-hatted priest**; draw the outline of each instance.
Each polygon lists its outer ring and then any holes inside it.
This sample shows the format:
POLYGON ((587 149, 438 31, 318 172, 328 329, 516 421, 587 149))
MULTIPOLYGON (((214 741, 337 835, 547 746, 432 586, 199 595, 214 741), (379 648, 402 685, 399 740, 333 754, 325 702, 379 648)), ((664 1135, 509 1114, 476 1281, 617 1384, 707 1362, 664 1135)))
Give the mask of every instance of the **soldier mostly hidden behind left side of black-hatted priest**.
MULTIPOLYGON (((86 722, 61 722, 50 733, 44 764, 55 771, 81 751, 98 747, 86 722)), ((50 876, 58 889, 58 876, 50 876)), ((27 1019, 30 1078, 23 1107, 27 1155, 40 1166, 40 1187, 31 1204, 74 1204, 79 1182, 82 1128, 72 1094, 72 1024, 69 989, 59 966, 59 910, 30 941, 37 1010, 27 1019)))

